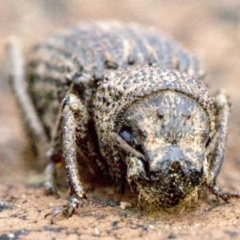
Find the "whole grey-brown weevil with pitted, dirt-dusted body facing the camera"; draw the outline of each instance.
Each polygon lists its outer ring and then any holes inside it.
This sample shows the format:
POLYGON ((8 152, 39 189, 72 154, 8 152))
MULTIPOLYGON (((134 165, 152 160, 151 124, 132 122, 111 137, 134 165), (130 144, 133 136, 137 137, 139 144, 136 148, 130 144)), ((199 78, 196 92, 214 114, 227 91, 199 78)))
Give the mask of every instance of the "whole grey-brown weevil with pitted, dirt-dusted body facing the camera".
POLYGON ((13 88, 49 164, 65 161, 70 200, 52 217, 71 216, 86 198, 78 164, 125 182, 140 201, 174 207, 207 187, 227 202, 239 194, 216 186, 230 112, 211 96, 199 61, 157 30, 117 22, 82 23, 34 46, 27 60, 9 47, 13 88), (26 64, 25 64, 26 62, 26 64))

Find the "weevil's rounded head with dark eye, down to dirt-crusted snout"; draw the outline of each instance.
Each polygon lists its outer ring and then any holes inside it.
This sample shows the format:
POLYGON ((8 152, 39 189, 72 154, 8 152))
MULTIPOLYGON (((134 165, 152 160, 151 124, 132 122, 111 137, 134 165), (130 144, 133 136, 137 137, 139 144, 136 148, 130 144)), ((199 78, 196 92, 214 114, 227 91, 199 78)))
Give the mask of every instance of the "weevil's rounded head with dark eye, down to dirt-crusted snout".
POLYGON ((191 97, 167 90, 134 102, 122 115, 119 135, 142 154, 123 153, 140 199, 172 207, 201 185, 210 127, 191 97))

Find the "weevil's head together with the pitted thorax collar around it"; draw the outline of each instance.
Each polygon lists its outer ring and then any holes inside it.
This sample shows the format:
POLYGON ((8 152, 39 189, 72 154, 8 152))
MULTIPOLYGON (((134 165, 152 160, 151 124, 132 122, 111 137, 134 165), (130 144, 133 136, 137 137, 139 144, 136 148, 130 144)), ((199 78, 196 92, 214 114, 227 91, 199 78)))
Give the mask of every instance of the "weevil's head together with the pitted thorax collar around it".
POLYGON ((204 181, 213 99, 190 77, 161 67, 119 70, 107 78, 94 103, 102 155, 126 163, 140 200, 163 208, 179 204, 204 181), (112 132, 140 155, 117 146, 112 132))

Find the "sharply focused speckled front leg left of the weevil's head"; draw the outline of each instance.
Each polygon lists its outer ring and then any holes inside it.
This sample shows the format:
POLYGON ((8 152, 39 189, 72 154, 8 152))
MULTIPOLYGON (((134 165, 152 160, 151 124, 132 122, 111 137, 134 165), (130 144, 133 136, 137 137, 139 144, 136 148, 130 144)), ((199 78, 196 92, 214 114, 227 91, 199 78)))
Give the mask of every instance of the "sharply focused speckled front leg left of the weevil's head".
POLYGON ((69 94, 63 100, 62 105, 62 129, 63 129, 63 157, 67 171, 67 179, 70 188, 70 199, 64 207, 57 207, 52 212, 52 220, 55 217, 70 217, 78 208, 80 199, 86 198, 82 182, 80 180, 77 164, 76 129, 85 107, 81 100, 74 94, 69 94))

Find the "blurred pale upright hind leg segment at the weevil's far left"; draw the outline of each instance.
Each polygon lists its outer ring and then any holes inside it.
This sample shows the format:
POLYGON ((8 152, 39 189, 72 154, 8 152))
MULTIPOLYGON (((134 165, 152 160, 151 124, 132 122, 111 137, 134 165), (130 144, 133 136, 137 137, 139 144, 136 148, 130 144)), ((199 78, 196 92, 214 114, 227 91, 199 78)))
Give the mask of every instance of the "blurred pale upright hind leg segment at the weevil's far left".
POLYGON ((25 63, 17 38, 12 37, 9 40, 7 55, 11 69, 12 88, 24 121, 34 136, 34 140, 46 146, 49 141, 27 90, 25 63))

